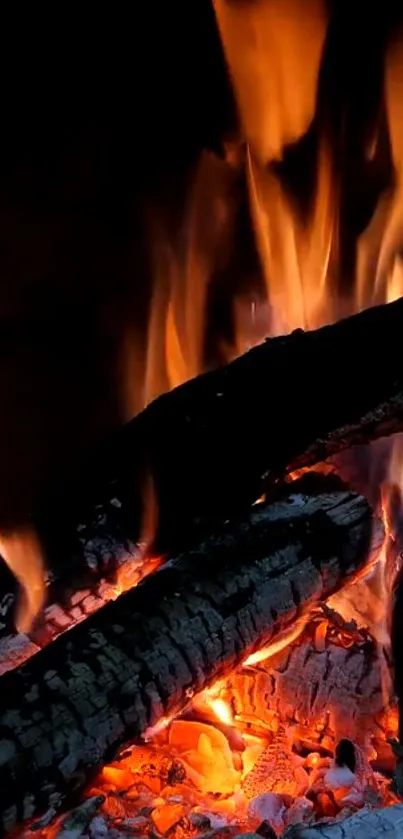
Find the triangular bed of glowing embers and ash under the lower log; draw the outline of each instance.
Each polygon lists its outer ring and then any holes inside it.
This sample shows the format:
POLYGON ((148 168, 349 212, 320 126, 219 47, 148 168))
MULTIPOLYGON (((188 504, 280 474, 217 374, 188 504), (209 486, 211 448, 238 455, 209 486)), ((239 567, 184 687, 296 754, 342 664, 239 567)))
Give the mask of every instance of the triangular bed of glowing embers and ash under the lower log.
POLYGON ((400 835, 390 832, 401 828, 403 805, 393 792, 397 714, 393 697, 385 707, 383 668, 368 632, 324 607, 281 652, 238 668, 121 752, 78 807, 49 811, 21 836, 400 835))

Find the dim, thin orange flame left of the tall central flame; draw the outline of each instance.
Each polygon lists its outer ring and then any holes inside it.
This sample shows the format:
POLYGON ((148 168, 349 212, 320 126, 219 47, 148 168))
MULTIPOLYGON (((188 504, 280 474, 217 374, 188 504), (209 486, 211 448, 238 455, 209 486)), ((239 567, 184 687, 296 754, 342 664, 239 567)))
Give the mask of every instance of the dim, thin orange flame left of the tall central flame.
POLYGON ((231 164, 204 152, 178 239, 152 219, 154 293, 143 407, 204 369, 207 293, 214 270, 229 252, 234 177, 231 164))

